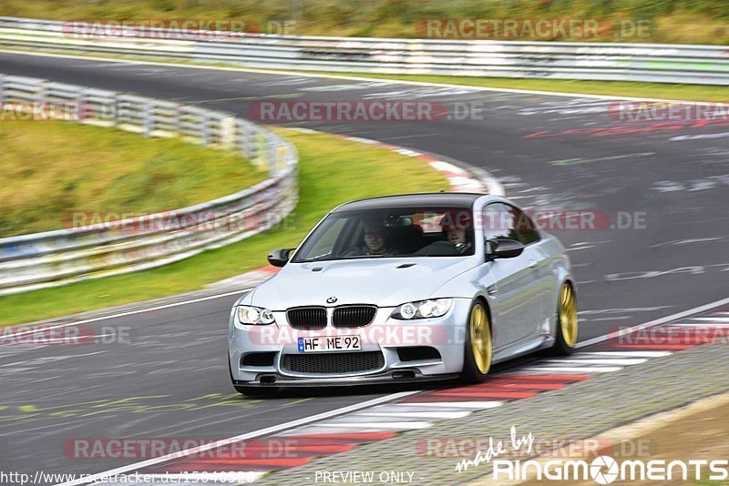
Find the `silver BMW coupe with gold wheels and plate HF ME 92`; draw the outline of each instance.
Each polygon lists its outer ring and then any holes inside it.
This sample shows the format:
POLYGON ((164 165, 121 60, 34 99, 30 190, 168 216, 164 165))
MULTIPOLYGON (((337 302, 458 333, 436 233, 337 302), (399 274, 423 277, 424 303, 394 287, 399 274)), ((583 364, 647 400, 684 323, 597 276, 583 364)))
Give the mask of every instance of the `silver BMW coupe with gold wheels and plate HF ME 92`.
POLYGON ((560 241, 507 198, 437 193, 334 208, 231 309, 241 393, 461 378, 578 335, 560 241))

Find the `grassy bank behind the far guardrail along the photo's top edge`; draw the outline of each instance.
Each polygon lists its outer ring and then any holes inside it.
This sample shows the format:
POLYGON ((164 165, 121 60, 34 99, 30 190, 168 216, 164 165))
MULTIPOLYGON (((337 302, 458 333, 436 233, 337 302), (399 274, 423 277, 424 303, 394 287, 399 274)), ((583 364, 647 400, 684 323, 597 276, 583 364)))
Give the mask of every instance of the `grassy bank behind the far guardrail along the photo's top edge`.
MULTIPOLYGON (((295 35, 373 37, 425 36, 425 19, 597 19, 629 28, 600 28, 598 35, 560 33, 539 40, 622 41, 678 44, 729 44, 729 9, 724 0, 4 0, 0 15, 79 19, 241 19, 261 32, 280 33, 284 20, 295 20, 295 35), (647 22, 640 33, 632 25, 647 22), (269 28, 269 22, 278 22, 269 28)), ((503 38, 495 35, 491 38, 503 38)), ((529 32, 519 29, 519 38, 529 32)))

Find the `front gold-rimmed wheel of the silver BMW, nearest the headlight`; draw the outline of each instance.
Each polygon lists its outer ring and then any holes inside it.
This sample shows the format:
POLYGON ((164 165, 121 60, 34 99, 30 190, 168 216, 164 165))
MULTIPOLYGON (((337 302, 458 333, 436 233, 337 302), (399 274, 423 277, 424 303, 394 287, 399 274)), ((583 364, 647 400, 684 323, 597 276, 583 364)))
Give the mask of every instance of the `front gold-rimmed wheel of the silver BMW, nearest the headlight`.
POLYGON ((486 381, 493 359, 493 339, 491 323, 486 306, 477 300, 468 313, 466 348, 464 349, 463 373, 461 377, 468 382, 486 381))

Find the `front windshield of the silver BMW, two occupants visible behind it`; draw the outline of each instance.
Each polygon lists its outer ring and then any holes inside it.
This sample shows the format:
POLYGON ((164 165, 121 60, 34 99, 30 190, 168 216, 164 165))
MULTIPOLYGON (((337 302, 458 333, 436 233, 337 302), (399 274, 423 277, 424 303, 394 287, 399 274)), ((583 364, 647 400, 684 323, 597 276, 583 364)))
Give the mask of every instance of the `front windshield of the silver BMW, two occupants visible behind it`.
POLYGON ((473 255, 472 217, 472 211, 466 208, 334 213, 306 238, 292 261, 473 255))

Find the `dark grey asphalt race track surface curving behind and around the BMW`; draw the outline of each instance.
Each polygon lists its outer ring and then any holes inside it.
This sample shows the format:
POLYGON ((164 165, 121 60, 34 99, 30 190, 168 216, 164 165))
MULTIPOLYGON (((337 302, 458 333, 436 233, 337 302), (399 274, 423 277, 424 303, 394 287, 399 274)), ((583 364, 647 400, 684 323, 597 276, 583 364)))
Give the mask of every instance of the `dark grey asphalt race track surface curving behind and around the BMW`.
MULTIPOLYGON (((241 116, 249 116, 251 104, 261 99, 476 102, 484 108, 483 119, 288 125, 484 167, 523 207, 592 209, 610 215, 611 223, 619 212, 643 215, 645 228, 607 224, 553 231, 569 248, 578 280, 580 340, 727 297, 726 127, 654 122, 626 129, 608 116, 611 100, 467 87, 15 54, 0 54, 0 72, 204 104, 241 116)), ((128 326, 133 343, 128 346, 0 349, 0 469, 106 471, 128 461, 75 460, 64 444, 75 438, 222 439, 399 391, 241 398, 231 389, 225 363, 234 299, 88 324, 94 330, 128 326)))

